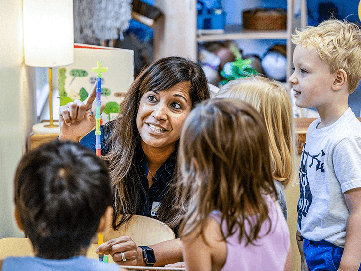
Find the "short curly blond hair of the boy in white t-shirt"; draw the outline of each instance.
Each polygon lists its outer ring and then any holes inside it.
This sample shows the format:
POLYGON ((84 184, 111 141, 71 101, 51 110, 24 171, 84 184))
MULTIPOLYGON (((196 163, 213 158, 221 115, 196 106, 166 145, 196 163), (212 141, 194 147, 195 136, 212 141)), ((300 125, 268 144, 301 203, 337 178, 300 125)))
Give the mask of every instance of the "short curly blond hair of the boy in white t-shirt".
POLYGON ((292 42, 315 48, 331 73, 343 69, 347 74, 348 92, 354 92, 361 79, 361 33, 356 24, 329 19, 318 26, 296 29, 292 42))

